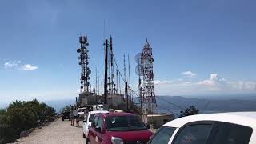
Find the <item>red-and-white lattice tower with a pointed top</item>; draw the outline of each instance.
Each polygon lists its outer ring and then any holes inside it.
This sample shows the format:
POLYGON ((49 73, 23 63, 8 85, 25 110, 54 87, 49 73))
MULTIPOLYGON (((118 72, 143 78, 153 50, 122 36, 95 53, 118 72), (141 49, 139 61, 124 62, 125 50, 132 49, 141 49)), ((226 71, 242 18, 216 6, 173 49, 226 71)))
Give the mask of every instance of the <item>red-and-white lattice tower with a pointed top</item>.
POLYGON ((152 48, 146 39, 146 43, 142 50, 142 101, 148 106, 149 113, 152 113, 154 111, 153 105, 156 106, 154 94, 153 62, 154 59, 152 54, 152 48))

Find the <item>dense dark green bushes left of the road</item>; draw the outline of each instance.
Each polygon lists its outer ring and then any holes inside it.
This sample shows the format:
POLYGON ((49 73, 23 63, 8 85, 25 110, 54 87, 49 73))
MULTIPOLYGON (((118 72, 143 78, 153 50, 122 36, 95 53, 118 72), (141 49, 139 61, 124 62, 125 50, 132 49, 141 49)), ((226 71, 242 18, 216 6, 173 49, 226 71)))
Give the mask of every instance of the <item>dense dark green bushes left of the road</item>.
POLYGON ((39 126, 54 115, 54 108, 36 99, 12 102, 0 110, 0 143, 13 142, 22 131, 39 126))

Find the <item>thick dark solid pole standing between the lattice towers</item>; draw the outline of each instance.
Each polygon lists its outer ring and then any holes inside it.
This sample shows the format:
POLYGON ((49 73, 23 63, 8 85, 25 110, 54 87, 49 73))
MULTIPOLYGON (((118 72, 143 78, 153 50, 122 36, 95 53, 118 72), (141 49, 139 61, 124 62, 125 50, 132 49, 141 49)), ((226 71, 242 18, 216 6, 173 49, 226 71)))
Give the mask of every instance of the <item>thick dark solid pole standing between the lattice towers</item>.
POLYGON ((104 78, 104 103, 107 104, 107 63, 108 63, 108 41, 105 40, 105 78, 104 78))

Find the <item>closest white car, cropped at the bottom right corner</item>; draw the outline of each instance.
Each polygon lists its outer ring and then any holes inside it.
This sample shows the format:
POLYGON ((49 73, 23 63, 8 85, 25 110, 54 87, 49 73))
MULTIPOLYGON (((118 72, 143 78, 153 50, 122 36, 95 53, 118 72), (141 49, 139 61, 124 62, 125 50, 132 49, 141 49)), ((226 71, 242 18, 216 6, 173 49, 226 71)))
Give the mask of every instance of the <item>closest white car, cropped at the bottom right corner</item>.
POLYGON ((256 144, 256 112, 198 114, 163 125, 148 144, 256 144))

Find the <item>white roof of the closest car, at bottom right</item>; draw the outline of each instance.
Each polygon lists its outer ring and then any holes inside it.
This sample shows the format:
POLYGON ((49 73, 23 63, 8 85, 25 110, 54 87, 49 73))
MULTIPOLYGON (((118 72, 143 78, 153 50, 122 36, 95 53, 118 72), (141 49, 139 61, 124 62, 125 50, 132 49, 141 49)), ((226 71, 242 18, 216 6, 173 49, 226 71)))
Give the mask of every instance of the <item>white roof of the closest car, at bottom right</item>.
POLYGON ((218 121, 229 122, 242 126, 250 126, 256 128, 256 112, 230 112, 230 113, 216 113, 216 114, 197 114, 178 118, 167 122, 163 126, 182 127, 188 122, 198 121, 218 121))

